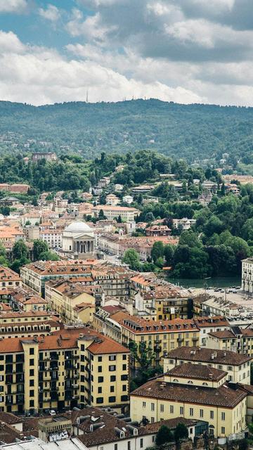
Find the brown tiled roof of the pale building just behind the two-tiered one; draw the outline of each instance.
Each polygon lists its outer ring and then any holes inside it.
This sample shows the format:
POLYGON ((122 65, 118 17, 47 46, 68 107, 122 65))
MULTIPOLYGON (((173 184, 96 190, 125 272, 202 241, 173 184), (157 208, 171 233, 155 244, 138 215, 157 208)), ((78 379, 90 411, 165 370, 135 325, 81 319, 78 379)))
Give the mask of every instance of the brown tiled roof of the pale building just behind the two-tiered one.
POLYGON ((228 364, 231 366, 240 366, 252 359, 251 356, 247 356, 246 354, 239 354, 228 350, 207 349, 206 347, 179 347, 169 352, 167 359, 172 358, 212 364, 228 364))

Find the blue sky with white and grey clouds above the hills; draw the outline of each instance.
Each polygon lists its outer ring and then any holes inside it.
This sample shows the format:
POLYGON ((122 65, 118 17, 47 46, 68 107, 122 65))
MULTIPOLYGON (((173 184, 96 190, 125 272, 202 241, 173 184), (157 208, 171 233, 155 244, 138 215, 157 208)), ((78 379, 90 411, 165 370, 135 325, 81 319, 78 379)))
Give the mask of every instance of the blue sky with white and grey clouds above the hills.
POLYGON ((0 99, 253 105, 252 0, 0 0, 0 99))

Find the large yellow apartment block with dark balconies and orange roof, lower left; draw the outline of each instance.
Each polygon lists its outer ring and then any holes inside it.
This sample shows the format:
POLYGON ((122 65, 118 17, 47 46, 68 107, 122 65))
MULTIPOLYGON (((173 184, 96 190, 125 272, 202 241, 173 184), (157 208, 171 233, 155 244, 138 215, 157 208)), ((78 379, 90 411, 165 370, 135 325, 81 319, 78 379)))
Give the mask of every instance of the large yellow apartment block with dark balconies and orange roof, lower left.
POLYGON ((129 403, 129 350, 89 328, 0 340, 0 411, 129 403))

